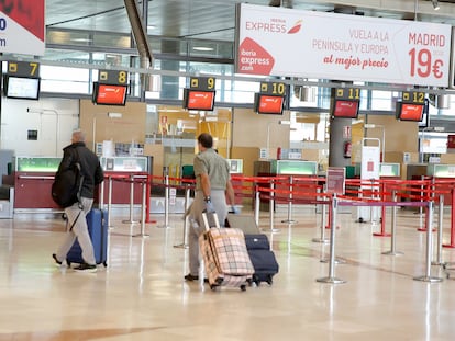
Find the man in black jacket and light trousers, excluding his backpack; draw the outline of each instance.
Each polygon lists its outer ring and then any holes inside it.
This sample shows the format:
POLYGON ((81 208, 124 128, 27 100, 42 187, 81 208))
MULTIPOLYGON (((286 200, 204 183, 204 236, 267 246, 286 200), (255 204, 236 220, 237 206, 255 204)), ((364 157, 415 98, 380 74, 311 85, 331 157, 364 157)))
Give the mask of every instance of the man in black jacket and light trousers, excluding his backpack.
POLYGON ((71 144, 63 149, 64 157, 58 167, 58 171, 68 169, 74 162, 79 161, 84 174, 84 182, 80 191, 80 202, 76 202, 65 208, 65 214, 68 218, 68 231, 57 253, 53 253, 52 257, 58 265, 62 265, 77 238, 82 249, 85 263, 75 268, 75 270, 96 272, 97 264, 93 246, 88 234, 86 214, 91 209, 91 205, 93 204, 95 187, 103 181, 104 175, 98 157, 86 147, 85 140, 84 132, 76 130, 73 133, 71 144))

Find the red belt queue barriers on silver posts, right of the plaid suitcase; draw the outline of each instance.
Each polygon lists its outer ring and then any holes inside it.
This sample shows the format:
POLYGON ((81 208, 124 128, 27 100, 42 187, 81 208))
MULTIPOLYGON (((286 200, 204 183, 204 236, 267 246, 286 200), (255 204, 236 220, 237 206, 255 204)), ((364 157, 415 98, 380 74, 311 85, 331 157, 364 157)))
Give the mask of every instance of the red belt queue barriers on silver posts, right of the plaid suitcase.
MULTIPOLYGON (((381 230, 374 232, 374 236, 391 237, 390 251, 384 252, 384 254, 398 255, 402 252, 396 249, 396 212, 397 207, 418 207, 420 212, 425 211, 425 227, 418 229, 426 231, 426 250, 425 250, 425 274, 414 277, 415 281, 423 282, 440 282, 442 279, 431 276, 431 264, 442 264, 441 249, 443 247, 442 240, 442 221, 444 211, 444 196, 451 197, 451 243, 444 245, 444 247, 455 248, 455 181, 440 180, 437 178, 422 178, 421 180, 392 180, 392 179, 379 179, 379 180, 346 180, 346 191, 343 195, 337 195, 335 198, 332 195, 325 193, 324 182, 325 179, 317 177, 258 177, 258 178, 242 178, 236 177, 238 181, 251 181, 253 193, 255 197, 255 217, 258 221, 258 205, 257 203, 263 201, 269 201, 269 225, 270 231, 274 232, 274 204, 276 202, 292 204, 319 204, 323 208, 330 206, 329 209, 329 226, 331 230, 334 229, 336 208, 339 206, 370 206, 380 207, 382 209, 381 217, 381 230), (299 183, 301 181, 302 183, 299 183), (334 204, 335 203, 335 204, 334 204), (432 219, 433 219, 433 206, 434 203, 439 203, 439 227, 437 232, 437 255, 434 262, 431 261, 433 253, 432 250, 432 219), (335 205, 335 209, 334 206, 335 205), (391 207, 391 231, 386 232, 386 207, 391 207)), ((245 186, 243 186, 245 189, 245 186)), ((245 194, 243 194, 245 195, 245 194)), ((325 209, 322 209, 322 224, 321 231, 323 232, 325 226, 325 209)), ((282 223, 289 223, 291 219, 291 209, 288 209, 288 220, 282 223)), ((331 231, 333 235, 333 231, 331 231)), ((331 236, 331 249, 333 248, 333 237, 331 236)), ((324 235, 321 234, 321 238, 313 241, 326 242, 324 235)), ((329 283, 344 283, 343 280, 336 279, 333 273, 334 258, 330 260, 329 276, 319 279, 318 282, 329 283)))

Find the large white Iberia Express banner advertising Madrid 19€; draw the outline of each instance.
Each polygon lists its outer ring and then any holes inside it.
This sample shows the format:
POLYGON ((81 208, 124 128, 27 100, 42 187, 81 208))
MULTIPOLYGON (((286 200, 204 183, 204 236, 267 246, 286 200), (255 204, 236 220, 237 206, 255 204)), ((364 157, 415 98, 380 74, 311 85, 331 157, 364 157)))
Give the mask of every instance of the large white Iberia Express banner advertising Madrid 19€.
POLYGON ((451 25, 240 4, 238 73, 447 87, 451 25))

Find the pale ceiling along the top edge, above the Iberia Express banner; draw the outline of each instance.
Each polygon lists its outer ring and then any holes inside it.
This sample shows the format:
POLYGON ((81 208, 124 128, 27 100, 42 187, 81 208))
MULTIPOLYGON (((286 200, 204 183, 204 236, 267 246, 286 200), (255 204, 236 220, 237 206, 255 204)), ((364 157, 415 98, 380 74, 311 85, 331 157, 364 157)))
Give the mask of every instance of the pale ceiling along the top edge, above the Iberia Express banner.
MULTIPOLYGON (((362 12, 367 16, 418 19, 455 26, 455 1, 440 1, 433 10, 428 0, 364 0, 364 1, 304 1, 248 0, 248 3, 269 5, 276 2, 298 10, 362 12)), ((233 0, 148 0, 149 35, 177 38, 201 38, 232 42, 234 39, 235 4, 233 0)), ((140 7, 142 1, 140 1, 140 7)), ((46 0, 46 25, 129 33, 130 22, 123 0, 46 0)))

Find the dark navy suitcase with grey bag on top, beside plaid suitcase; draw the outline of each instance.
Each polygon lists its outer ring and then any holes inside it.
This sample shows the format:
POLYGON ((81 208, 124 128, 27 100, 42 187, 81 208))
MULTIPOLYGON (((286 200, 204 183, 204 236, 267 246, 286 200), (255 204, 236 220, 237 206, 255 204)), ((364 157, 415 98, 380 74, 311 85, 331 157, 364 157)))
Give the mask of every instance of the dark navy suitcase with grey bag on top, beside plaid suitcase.
POLYGON ((243 230, 246 249, 254 266, 253 282, 259 285, 267 282, 271 285, 273 277, 278 273, 279 265, 266 235, 260 234, 253 216, 228 215, 231 227, 243 230))

